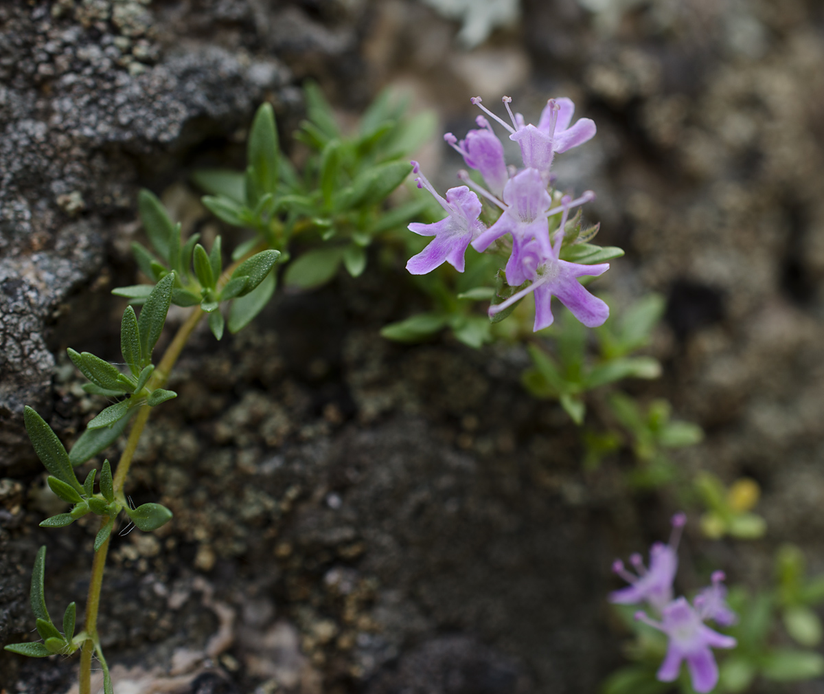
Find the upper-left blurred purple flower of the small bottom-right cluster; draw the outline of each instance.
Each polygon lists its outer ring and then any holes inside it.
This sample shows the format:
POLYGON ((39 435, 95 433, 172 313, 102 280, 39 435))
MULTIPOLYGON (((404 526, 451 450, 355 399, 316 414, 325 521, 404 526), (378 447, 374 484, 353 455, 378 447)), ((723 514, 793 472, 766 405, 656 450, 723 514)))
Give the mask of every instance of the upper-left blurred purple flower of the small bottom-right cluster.
POLYGON ((657 612, 662 612, 672 600, 672 581, 678 570, 678 542, 681 528, 686 523, 686 516, 677 513, 672 517, 672 535, 669 544, 656 542, 649 550, 649 569, 644 567, 644 560, 639 554, 630 557, 638 575, 625 570, 624 563, 616 560, 612 570, 630 585, 616 590, 610 595, 610 602, 619 605, 648 603, 657 612))

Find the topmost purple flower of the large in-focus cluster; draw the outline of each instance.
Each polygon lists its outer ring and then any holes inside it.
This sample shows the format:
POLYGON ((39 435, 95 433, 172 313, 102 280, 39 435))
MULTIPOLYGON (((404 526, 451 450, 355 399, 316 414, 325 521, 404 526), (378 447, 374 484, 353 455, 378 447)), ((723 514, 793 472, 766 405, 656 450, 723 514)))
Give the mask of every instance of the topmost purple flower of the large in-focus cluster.
POLYGON ((511 101, 512 99, 508 96, 503 97, 503 104, 512 120, 512 126, 483 106, 480 96, 472 99, 475 106, 479 106, 508 129, 511 133, 509 139, 517 142, 521 147, 523 165, 541 171, 541 176, 545 181, 549 181, 550 167, 555 152, 566 152, 568 149, 578 147, 579 144, 587 142, 595 135, 595 123, 588 118, 582 118, 572 127, 569 126, 575 112, 575 105, 566 97, 547 101, 544 110, 541 111, 541 120, 538 121, 537 126, 526 124, 519 113, 513 115, 509 107, 511 101))

